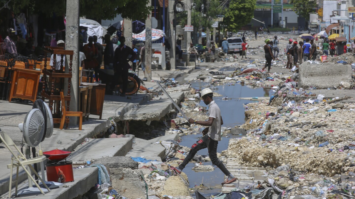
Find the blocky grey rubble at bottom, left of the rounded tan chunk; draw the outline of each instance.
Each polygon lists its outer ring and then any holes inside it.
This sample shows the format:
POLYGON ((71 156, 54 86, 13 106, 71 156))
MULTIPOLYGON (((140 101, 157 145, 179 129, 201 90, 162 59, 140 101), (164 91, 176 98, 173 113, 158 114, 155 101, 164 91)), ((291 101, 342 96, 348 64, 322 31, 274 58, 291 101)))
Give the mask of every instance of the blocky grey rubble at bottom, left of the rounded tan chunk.
POLYGON ((126 198, 147 198, 146 184, 142 171, 130 168, 110 169, 112 187, 126 198))

